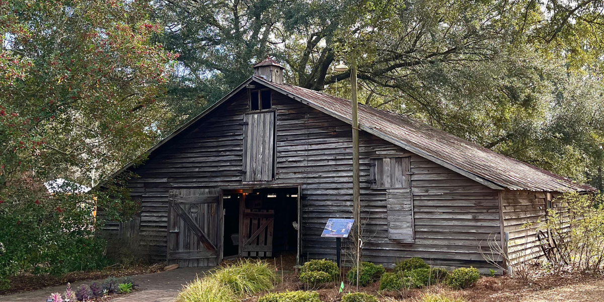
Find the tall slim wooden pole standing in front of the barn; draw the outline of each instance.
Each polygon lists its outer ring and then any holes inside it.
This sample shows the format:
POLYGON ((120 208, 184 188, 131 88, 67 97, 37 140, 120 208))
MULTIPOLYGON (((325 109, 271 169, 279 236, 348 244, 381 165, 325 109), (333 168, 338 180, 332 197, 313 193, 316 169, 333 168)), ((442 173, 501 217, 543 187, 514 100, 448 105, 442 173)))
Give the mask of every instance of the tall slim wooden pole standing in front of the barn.
POLYGON ((359 183, 359 106, 356 98, 356 52, 350 62, 350 88, 352 101, 352 200, 353 218, 356 222, 356 287, 359 287, 361 266, 361 184, 359 183))

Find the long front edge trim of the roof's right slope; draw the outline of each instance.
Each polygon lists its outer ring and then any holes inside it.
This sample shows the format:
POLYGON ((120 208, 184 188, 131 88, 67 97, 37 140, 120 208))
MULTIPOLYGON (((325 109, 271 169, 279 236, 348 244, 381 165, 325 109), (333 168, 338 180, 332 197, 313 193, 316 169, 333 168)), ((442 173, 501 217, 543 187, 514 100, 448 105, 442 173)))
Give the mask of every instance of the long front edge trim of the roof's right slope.
MULTIPOLYGON (((296 95, 294 93, 292 93, 291 91, 286 91, 284 89, 281 89, 279 86, 274 85, 274 83, 268 82, 265 79, 262 79, 260 77, 256 77, 254 76, 254 80, 259 80, 259 82, 262 82, 263 85, 266 86, 271 86, 271 88, 277 90, 278 92, 281 92, 284 95, 287 95, 288 97, 292 97, 295 100, 301 101, 302 103, 317 109, 318 111, 321 111, 327 115, 330 115, 332 117, 337 118, 338 120, 344 121, 347 124, 352 124, 352 120, 350 120, 349 118, 345 118, 342 115, 336 114, 333 111, 330 111, 329 109, 325 109, 322 108, 321 106, 316 106, 316 104, 313 104, 312 102, 306 100, 306 98, 301 97, 300 95, 296 95)), ((417 155, 422 156, 423 158, 429 159, 430 161, 434 161, 437 164, 443 165, 443 167, 446 167, 448 169, 451 169, 457 173, 460 173, 463 176, 466 176, 467 178, 470 178, 474 181, 479 182, 480 184, 486 185, 489 188, 495 189, 495 190, 504 190, 507 187, 503 186, 501 184, 496 184, 493 181, 490 181, 489 179, 485 179, 481 176, 475 175, 472 172, 469 172, 467 170, 461 169, 460 167, 457 167, 449 162, 443 161, 442 159, 439 159, 437 157, 435 157, 434 155, 431 155, 429 153, 423 152, 422 150, 417 149, 416 147, 410 146, 409 144, 403 143, 402 141, 396 140, 395 138, 390 137, 390 135, 386 135, 384 132, 373 129, 371 127, 365 126, 364 124, 360 124, 359 123, 359 128, 361 130, 364 130, 365 132, 371 133, 373 135, 375 135, 376 137, 382 138, 385 141, 388 141, 390 143, 396 144, 397 146, 400 146, 404 149, 410 150, 411 152, 416 153, 417 155)))

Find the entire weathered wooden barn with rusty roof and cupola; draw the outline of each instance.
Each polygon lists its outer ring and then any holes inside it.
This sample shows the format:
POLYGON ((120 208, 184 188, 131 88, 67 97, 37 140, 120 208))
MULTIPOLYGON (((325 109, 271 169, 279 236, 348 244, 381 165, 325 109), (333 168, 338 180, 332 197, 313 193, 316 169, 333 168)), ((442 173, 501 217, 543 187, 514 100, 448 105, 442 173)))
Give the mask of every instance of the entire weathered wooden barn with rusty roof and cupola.
MULTIPOLYGON (((143 165, 114 174, 140 176, 128 186, 143 210, 127 232, 152 257, 180 266, 283 252, 335 259, 335 239, 320 235, 327 219, 352 218, 352 106, 284 84, 282 73, 269 58, 255 65, 143 165)), ((478 246, 487 251, 488 239, 511 262, 539 257, 535 222, 552 197, 594 190, 405 115, 359 104, 359 125, 362 255, 386 267, 422 257, 487 273, 478 246)), ((106 228, 119 236, 126 226, 106 228)))

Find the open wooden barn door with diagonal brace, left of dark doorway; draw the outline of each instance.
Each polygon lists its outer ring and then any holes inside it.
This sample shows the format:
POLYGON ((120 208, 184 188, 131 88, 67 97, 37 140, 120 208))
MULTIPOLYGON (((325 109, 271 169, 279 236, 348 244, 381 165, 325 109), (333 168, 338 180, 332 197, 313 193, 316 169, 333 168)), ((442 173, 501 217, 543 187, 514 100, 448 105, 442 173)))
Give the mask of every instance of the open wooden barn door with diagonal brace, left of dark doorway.
POLYGON ((220 190, 170 190, 168 264, 214 266, 220 251, 220 190))

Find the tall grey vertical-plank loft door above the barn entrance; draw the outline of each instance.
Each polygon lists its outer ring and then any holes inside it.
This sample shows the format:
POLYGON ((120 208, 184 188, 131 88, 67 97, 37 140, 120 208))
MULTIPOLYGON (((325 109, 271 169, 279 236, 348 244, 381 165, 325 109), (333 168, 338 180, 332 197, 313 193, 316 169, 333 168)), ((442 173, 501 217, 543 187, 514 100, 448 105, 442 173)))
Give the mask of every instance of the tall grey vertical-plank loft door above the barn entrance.
POLYGON ((272 181, 275 158, 275 112, 245 115, 243 181, 272 181))

